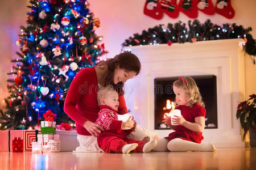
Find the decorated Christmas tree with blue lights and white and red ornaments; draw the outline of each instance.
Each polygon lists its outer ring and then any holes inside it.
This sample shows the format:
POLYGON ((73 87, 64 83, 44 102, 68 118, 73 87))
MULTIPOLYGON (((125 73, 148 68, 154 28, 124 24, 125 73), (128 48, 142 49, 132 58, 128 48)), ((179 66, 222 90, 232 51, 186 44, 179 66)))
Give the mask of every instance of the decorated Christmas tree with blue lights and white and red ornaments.
POLYGON ((34 129, 50 110, 57 124, 72 120, 63 111, 65 95, 75 75, 100 62, 106 53, 102 37, 94 31, 94 18, 86 0, 31 0, 27 27, 21 27, 7 80, 10 95, 1 111, 1 129, 34 129))

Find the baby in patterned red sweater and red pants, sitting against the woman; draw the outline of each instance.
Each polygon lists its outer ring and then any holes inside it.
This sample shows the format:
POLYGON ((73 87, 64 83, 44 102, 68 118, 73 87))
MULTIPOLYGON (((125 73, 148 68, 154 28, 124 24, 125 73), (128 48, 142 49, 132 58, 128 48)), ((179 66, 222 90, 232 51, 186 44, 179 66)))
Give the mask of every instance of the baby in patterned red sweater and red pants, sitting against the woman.
POLYGON ((100 135, 97 136, 97 142, 104 152, 123 154, 128 154, 130 151, 150 152, 157 145, 155 139, 145 143, 126 137, 135 129, 135 121, 131 116, 127 121, 118 120, 118 93, 112 86, 100 88, 97 93, 97 100, 101 111, 98 112, 95 124, 104 128, 104 131, 101 131, 100 135))

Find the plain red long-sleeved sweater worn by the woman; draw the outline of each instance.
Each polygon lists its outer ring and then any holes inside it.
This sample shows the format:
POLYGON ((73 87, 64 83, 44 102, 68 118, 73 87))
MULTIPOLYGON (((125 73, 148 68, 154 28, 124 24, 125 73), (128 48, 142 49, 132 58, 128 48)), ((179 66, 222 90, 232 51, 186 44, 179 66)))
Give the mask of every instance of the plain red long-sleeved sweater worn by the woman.
MULTIPOLYGON (((97 103, 98 80, 94 67, 79 71, 69 87, 64 103, 64 111, 76 122, 77 134, 91 135, 85 128, 84 122, 95 122, 100 107, 97 103)), ((125 98, 119 96, 118 114, 128 113, 125 98)))

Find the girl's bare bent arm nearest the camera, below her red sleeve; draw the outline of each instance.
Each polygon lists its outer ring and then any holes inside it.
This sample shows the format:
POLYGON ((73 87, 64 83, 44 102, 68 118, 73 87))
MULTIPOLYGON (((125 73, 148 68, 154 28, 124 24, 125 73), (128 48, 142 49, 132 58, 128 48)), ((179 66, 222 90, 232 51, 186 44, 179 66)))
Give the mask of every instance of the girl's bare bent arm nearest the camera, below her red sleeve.
POLYGON ((179 124, 184 126, 185 128, 196 131, 196 132, 203 132, 205 127, 205 118, 203 116, 195 117, 195 123, 186 121, 184 117, 181 115, 180 117, 175 116, 176 118, 173 118, 173 122, 175 124, 179 124))

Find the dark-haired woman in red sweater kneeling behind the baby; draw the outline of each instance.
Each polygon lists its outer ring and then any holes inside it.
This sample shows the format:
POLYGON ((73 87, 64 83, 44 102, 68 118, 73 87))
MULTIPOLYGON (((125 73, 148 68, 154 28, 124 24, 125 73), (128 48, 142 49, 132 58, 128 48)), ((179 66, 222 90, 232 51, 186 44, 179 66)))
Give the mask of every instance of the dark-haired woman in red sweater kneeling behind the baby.
POLYGON ((128 113, 123 84, 138 75, 140 70, 138 57, 125 52, 95 67, 82 69, 75 76, 65 99, 64 111, 76 122, 77 140, 80 143, 77 152, 100 152, 96 137, 104 129, 94 124, 100 111, 97 104, 98 87, 112 85, 119 94, 118 114, 128 113))

